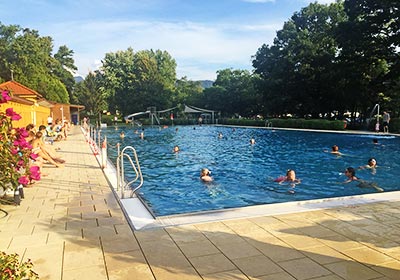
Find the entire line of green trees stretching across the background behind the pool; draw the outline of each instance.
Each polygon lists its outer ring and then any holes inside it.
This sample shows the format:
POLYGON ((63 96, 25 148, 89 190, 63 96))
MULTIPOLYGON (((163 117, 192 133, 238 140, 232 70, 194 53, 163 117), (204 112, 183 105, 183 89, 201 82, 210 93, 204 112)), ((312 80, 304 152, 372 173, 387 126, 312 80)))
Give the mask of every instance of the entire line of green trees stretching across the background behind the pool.
POLYGON ((99 70, 75 85, 71 50, 62 46, 52 55, 50 37, 0 24, 0 79, 13 70, 17 81, 47 99, 85 105, 90 115, 185 103, 223 116, 314 117, 366 115, 379 103, 398 115, 399 30, 397 0, 312 3, 285 22, 273 44, 258 49, 253 72, 221 69, 213 86, 203 89, 177 79, 168 52, 132 48, 105 54, 99 70))

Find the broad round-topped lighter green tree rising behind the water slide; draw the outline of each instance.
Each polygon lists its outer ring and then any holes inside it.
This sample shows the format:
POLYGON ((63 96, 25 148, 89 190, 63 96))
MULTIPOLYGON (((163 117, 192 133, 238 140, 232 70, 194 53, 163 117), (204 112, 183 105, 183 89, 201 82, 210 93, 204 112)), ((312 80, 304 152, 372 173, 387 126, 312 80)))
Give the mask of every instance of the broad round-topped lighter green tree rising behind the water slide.
POLYGON ((137 53, 132 48, 107 53, 101 74, 110 90, 113 109, 123 114, 146 110, 156 106, 171 106, 176 80, 176 62, 160 50, 137 53))

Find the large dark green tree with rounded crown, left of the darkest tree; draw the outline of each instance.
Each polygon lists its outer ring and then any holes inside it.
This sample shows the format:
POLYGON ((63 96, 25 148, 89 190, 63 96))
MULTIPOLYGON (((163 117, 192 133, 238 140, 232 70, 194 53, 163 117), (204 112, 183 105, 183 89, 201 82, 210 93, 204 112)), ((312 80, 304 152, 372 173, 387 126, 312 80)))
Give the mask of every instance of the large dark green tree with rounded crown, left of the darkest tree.
POLYGON ((253 66, 262 78, 259 87, 268 113, 318 116, 337 109, 332 102, 337 96, 334 35, 343 20, 342 3, 312 3, 294 13, 272 46, 257 51, 253 66))

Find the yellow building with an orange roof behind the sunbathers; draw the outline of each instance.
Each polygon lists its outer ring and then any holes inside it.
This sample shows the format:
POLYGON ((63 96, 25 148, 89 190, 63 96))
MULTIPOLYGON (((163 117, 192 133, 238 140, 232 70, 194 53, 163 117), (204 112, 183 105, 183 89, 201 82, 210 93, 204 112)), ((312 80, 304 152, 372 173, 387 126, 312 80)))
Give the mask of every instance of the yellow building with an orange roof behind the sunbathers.
POLYGON ((0 111, 12 107, 22 117, 19 121, 13 121, 14 127, 25 127, 30 123, 36 126, 47 125, 47 117, 51 115, 53 105, 41 94, 16 81, 0 84, 0 90, 11 93, 11 100, 0 104, 0 111))

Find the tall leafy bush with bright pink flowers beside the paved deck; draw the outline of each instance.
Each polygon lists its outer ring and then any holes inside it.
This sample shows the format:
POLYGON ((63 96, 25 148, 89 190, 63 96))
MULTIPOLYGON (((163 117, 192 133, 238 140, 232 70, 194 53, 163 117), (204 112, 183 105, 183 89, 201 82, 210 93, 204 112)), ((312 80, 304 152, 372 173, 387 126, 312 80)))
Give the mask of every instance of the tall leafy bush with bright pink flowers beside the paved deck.
MULTIPOLYGON (((7 103, 11 97, 2 91, 0 104, 7 103)), ((12 121, 21 119, 13 108, 0 112, 0 187, 15 192, 30 180, 40 180, 38 166, 30 166, 30 160, 36 158, 32 146, 26 141, 25 128, 13 128, 12 121)))

